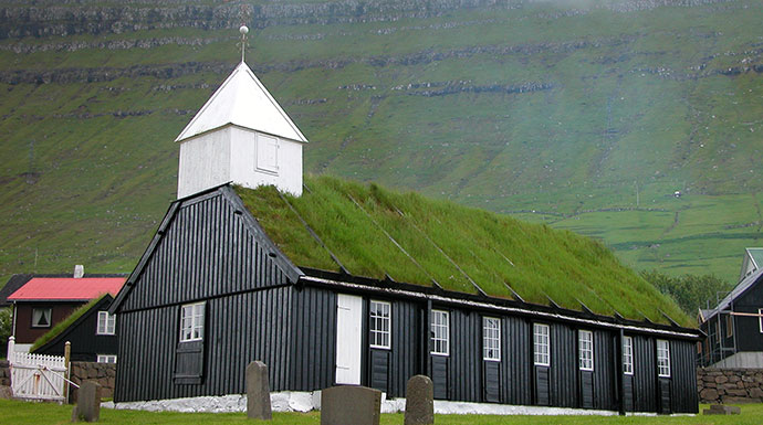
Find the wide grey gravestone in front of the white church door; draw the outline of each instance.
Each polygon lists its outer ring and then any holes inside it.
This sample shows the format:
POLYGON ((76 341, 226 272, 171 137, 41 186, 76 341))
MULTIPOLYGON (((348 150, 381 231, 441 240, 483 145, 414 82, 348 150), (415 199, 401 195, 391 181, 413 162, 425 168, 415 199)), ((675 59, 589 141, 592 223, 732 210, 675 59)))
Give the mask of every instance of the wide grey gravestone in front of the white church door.
POLYGON ((382 392, 339 385, 321 392, 321 425, 379 425, 382 392))

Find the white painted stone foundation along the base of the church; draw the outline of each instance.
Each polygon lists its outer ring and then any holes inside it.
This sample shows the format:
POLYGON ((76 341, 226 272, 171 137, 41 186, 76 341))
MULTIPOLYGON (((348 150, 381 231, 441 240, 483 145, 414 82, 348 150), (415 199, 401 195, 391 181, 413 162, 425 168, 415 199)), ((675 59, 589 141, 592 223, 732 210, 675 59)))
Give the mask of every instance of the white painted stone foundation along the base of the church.
MULTIPOLYGON (((270 394, 270 403, 273 412, 310 412, 321 410, 321 392, 283 391, 270 394)), ((148 412, 245 412, 247 395, 230 394, 222 396, 202 396, 173 400, 151 400, 146 402, 106 402, 101 404, 105 408, 137 410, 148 412)), ((382 413, 405 412, 406 400, 382 397, 382 413)), ((435 401, 435 413, 458 415, 587 415, 587 416, 615 416, 617 412, 594 411, 583 408, 541 407, 541 406, 514 406, 492 403, 467 403, 435 401)), ((635 415, 654 416, 654 413, 636 413, 635 415)))

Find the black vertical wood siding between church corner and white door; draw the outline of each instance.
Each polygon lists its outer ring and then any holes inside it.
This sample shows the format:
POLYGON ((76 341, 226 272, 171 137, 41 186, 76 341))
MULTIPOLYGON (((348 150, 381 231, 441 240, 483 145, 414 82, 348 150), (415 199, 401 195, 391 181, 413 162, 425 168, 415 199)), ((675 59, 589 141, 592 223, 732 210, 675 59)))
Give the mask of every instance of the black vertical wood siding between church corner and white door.
POLYGON ((323 390, 334 385, 336 369, 336 293, 305 287, 292 301, 294 341, 289 357, 292 391, 323 390))

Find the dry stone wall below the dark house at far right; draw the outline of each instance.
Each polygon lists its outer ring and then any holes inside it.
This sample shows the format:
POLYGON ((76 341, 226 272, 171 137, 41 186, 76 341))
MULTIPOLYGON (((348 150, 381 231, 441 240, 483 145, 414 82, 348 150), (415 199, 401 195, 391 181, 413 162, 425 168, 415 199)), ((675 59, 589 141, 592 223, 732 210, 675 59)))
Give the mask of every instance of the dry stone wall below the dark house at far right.
POLYGON ((763 402, 763 369, 697 368, 700 403, 763 402))

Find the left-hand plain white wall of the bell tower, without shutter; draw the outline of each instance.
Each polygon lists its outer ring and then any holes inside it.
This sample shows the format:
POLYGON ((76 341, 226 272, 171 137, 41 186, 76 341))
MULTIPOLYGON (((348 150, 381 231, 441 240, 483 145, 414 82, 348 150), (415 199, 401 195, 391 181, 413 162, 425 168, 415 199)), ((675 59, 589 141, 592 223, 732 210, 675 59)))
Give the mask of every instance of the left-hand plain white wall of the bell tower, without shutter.
POLYGON ((180 144, 178 198, 227 183, 230 176, 231 128, 222 128, 180 144))

